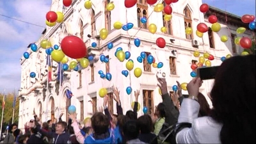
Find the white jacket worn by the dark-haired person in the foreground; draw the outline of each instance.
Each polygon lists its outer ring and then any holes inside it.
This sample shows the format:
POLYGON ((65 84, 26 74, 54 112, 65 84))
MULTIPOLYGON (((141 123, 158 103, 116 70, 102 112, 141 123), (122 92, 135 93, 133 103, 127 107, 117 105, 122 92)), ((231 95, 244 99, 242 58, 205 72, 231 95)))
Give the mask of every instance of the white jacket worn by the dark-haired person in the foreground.
POLYGON ((221 143, 222 124, 218 124, 209 116, 198 118, 199 109, 200 105, 196 100, 182 101, 178 122, 189 122, 192 127, 182 129, 177 134, 177 143, 221 143))

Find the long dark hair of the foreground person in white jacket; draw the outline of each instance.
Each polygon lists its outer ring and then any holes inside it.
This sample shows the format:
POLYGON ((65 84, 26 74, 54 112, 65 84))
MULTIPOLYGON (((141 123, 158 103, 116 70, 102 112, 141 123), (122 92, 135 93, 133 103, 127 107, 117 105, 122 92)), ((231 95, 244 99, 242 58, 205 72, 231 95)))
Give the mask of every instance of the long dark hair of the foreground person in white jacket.
POLYGON ((221 143, 255 143, 255 55, 223 61, 211 90, 221 143))

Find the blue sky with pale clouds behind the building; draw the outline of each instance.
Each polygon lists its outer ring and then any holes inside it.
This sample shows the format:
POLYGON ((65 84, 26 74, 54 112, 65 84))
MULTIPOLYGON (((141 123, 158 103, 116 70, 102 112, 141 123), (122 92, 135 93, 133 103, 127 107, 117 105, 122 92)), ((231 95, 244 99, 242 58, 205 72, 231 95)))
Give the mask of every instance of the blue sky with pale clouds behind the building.
MULTIPOLYGON (((255 15, 255 0, 202 1, 235 15, 255 15)), ((50 8, 51 0, 0 0, 0 93, 20 88, 20 58, 28 45, 40 38, 50 8)))

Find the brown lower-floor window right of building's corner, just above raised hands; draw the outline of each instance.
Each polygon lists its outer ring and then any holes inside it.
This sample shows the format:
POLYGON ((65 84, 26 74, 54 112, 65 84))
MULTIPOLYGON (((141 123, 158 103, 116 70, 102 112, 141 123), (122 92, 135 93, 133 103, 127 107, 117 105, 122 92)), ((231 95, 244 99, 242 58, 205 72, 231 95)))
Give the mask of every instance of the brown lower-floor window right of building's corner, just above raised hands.
POLYGON ((154 91, 143 90, 143 106, 148 108, 148 115, 154 113, 154 91))

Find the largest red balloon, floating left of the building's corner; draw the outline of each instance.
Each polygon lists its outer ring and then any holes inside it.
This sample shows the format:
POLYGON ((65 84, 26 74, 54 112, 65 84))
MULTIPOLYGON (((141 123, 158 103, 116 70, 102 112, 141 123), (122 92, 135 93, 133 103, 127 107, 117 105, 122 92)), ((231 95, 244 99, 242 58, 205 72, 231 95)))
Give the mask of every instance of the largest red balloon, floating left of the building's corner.
POLYGON ((70 35, 61 41, 61 50, 70 58, 84 58, 87 55, 86 46, 81 38, 70 35))

